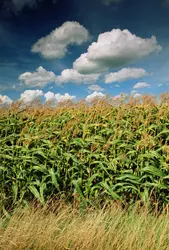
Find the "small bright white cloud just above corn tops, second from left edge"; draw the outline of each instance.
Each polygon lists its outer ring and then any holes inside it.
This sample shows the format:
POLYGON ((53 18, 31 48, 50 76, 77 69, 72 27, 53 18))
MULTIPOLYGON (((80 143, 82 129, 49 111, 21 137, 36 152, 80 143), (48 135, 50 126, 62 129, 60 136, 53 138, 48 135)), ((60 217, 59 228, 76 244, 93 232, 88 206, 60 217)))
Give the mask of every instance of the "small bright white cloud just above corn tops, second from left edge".
POLYGON ((30 104, 32 102, 35 102, 39 100, 39 98, 43 96, 42 90, 25 90, 21 96, 20 101, 22 101, 25 104, 30 104))

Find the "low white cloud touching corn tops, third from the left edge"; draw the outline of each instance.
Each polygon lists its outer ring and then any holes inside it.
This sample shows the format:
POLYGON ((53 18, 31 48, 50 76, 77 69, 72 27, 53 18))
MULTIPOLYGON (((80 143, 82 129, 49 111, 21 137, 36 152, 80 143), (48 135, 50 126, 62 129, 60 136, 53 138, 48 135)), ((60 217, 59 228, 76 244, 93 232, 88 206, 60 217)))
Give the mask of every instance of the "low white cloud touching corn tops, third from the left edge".
POLYGON ((72 101, 76 98, 76 96, 71 96, 68 93, 61 95, 61 94, 54 94, 53 92, 47 92, 44 95, 46 102, 50 101, 50 102, 65 102, 65 101, 72 101))

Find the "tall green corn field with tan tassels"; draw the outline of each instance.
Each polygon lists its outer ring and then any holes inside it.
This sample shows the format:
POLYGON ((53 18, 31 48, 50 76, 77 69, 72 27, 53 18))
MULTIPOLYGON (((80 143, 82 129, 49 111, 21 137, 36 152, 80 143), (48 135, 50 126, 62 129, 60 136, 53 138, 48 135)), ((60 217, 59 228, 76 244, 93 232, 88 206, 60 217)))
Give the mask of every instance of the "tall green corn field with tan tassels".
MULTIPOLYGON (((0 201, 4 212, 53 197, 88 207, 169 202, 169 105, 144 96, 0 111, 0 201)), ((168 99, 167 99, 168 100, 168 99)), ((164 102, 165 101, 165 102, 164 102)))

